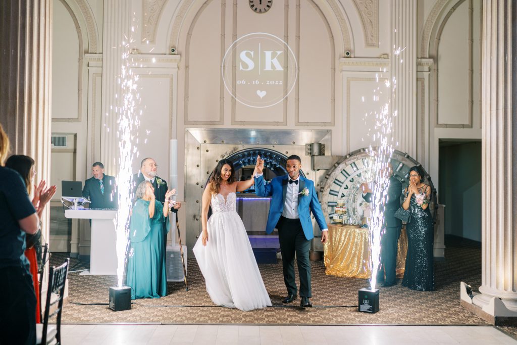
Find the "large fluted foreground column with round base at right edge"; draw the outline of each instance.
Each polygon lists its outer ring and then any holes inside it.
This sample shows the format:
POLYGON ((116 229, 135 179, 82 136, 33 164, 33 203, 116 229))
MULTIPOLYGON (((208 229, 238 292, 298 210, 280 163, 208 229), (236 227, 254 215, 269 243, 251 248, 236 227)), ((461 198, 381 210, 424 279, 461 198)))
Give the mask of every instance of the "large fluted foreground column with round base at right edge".
POLYGON ((473 303, 493 316, 517 316, 515 18, 512 0, 483 4, 482 285, 473 303), (509 310, 493 297, 501 298, 509 310))

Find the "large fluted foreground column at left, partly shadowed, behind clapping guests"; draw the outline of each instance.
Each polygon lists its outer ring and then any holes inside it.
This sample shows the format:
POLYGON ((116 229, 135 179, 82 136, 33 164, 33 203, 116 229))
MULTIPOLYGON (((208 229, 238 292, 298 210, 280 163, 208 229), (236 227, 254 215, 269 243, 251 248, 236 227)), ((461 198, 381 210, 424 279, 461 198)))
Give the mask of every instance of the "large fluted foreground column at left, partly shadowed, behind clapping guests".
MULTIPOLYGON (((11 154, 35 160, 37 181, 50 182, 52 0, 6 0, 0 5, 0 122, 11 154)), ((42 235, 49 240, 49 206, 42 235)), ((43 290, 47 275, 44 275, 43 290)))

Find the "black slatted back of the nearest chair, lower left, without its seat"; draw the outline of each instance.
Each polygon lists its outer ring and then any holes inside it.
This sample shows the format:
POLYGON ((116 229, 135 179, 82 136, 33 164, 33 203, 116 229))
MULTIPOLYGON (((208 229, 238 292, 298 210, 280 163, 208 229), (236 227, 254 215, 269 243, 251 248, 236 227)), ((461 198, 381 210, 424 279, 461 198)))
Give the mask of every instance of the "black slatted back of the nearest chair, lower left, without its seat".
POLYGON ((63 308, 63 296, 65 294, 65 282, 68 273, 68 265, 70 258, 58 266, 49 268, 49 288, 47 289, 47 298, 45 302, 45 312, 43 316, 43 333, 41 334, 41 343, 47 343, 47 328, 49 317, 57 314, 56 317, 56 340, 57 344, 61 343, 61 311, 63 308), (52 294, 57 295, 57 299, 52 301, 52 294), (50 309, 57 303, 57 308, 50 314, 50 309))

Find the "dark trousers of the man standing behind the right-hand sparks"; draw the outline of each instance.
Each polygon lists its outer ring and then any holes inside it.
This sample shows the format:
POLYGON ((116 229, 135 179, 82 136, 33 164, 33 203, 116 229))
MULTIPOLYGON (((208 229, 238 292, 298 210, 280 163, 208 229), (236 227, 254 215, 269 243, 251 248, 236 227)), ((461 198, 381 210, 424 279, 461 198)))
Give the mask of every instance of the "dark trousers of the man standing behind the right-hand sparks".
POLYGON ((396 282, 397 253, 401 229, 402 227, 386 227, 381 237, 381 267, 377 275, 378 281, 396 282), (386 275, 386 279, 384 275, 386 275))

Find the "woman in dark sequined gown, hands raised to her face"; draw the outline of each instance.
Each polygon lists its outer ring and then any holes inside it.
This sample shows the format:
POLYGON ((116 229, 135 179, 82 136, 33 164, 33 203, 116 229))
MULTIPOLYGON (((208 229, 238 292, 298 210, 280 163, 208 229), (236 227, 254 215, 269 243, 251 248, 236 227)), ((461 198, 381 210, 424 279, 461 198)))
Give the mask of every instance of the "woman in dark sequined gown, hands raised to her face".
POLYGON ((409 186, 404 191, 402 207, 411 212, 407 232, 406 268, 402 285, 418 291, 434 290, 433 217, 429 211, 431 187, 422 183, 423 170, 409 169, 409 186))

